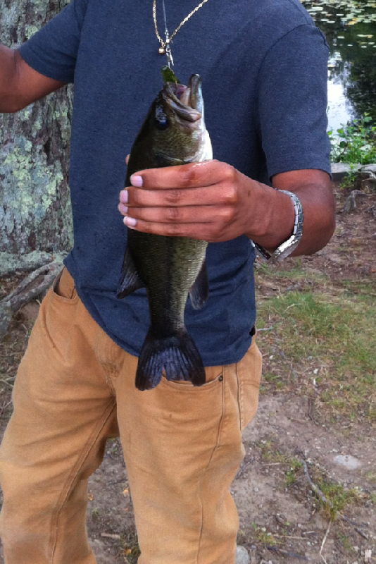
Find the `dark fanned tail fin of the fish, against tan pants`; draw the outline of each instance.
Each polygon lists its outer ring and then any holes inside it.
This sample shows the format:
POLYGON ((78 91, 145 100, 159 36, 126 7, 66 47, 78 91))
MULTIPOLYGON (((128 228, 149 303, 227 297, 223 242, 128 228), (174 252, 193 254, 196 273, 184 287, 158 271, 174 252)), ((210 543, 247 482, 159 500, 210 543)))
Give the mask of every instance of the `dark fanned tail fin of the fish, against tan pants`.
POLYGON ((194 386, 205 384, 200 353, 187 332, 158 339, 149 329, 139 355, 136 388, 150 390, 158 386, 163 369, 168 380, 189 380, 194 386))

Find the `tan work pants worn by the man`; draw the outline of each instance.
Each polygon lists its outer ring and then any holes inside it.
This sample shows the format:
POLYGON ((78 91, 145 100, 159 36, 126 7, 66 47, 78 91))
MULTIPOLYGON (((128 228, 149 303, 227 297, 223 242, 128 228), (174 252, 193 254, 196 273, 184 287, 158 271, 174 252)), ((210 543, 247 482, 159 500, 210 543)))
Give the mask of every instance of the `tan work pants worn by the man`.
POLYGON ((244 456, 242 430, 257 410, 256 343, 241 362, 207 368, 201 388, 163 379, 141 392, 136 367, 90 317, 65 269, 42 303, 1 445, 6 564, 95 563, 87 480, 106 439, 119 434, 139 564, 234 563, 230 484, 244 456))

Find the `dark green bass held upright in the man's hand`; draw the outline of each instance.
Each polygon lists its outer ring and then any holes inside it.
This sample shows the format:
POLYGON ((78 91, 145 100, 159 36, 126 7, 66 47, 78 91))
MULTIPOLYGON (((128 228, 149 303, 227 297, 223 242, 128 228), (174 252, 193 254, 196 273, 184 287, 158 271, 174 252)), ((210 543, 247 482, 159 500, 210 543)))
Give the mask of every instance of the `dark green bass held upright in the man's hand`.
MULTIPOLYGON (((187 86, 166 82, 134 141, 125 185, 130 186, 132 174, 144 168, 212 158, 203 118, 201 78, 192 75, 187 86)), ((187 237, 127 231, 118 298, 146 288, 150 313, 150 327, 137 366, 139 390, 155 388, 163 370, 168 380, 205 384, 201 356, 184 326, 184 309, 188 294, 194 309, 208 299, 207 245, 206 241, 187 237)))

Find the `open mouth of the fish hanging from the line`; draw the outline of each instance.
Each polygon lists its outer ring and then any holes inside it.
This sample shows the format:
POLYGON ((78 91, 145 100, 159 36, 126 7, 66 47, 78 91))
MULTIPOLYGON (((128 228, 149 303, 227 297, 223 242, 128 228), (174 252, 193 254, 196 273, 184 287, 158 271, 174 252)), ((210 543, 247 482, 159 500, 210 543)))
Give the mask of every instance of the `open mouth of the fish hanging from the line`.
MULTIPOLYGON (((168 107, 180 118, 180 123, 195 123, 203 117, 201 77, 192 75, 187 86, 167 82, 163 88, 163 99, 168 107)), ((188 125, 188 124, 186 124, 188 125)))

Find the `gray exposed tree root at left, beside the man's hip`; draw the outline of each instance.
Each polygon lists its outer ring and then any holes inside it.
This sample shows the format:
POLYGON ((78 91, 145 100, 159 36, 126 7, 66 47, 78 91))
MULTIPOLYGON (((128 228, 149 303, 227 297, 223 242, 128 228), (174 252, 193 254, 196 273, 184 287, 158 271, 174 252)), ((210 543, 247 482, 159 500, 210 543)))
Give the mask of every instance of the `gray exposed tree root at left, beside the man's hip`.
POLYGON ((12 293, 0 301, 0 341, 8 331, 12 317, 21 307, 37 298, 52 285, 63 269, 61 260, 44 264, 24 278, 12 293))

